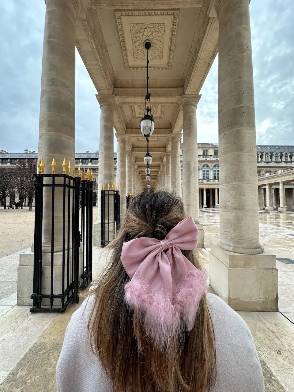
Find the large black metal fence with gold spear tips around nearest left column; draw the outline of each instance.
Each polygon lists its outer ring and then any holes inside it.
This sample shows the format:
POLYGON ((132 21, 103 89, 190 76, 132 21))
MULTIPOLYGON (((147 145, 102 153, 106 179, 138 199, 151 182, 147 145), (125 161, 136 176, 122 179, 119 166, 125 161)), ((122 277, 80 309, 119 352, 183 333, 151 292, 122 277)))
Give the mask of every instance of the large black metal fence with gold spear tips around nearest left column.
POLYGON ((92 280, 93 183, 67 174, 37 174, 35 187, 33 307, 30 312, 64 312, 71 301, 79 302, 79 287, 86 287, 92 280), (43 239, 43 210, 46 236, 48 222, 51 222, 50 252, 42 249, 43 240, 47 240, 43 239), (62 251, 58 254, 54 253, 55 221, 60 220, 61 214, 62 251), (58 257, 61 260, 57 260, 58 257))

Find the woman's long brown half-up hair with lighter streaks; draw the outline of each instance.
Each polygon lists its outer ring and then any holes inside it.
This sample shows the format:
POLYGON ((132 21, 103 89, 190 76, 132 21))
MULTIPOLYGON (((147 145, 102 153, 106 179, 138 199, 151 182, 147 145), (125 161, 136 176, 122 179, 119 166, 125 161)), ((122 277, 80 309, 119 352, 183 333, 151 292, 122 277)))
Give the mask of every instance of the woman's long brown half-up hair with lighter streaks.
MULTIPOLYGON (((183 330, 164 350, 146 336, 138 314, 124 301, 130 278, 120 261, 123 242, 138 237, 162 240, 184 218, 181 199, 170 192, 134 197, 111 243, 110 265, 88 294, 95 294, 88 324, 91 348, 113 381, 114 392, 208 392, 215 383, 214 333, 205 295, 194 328, 183 330)), ((195 250, 182 252, 201 269, 195 250)))

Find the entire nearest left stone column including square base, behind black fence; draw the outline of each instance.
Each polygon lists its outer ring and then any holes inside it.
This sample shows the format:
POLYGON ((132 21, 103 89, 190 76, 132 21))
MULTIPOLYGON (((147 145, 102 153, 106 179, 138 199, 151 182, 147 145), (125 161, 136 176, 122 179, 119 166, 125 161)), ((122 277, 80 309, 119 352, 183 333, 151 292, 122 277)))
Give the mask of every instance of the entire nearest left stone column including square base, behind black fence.
MULTIPOLYGON (((56 161, 56 174, 62 174, 62 162, 73 167, 75 162, 75 43, 78 0, 47 0, 42 56, 41 99, 39 118, 38 160, 45 162, 44 174, 51 174, 56 161)), ((44 179, 44 183, 51 179, 44 179)), ((56 178, 55 183, 63 179, 56 178)), ((52 190, 43 193, 42 289, 50 292, 52 190)), ((9 200, 9 199, 8 199, 9 200)), ((63 191, 55 189, 54 208, 54 291, 62 290, 62 228, 63 191)), ((66 206, 67 208, 67 201, 66 206)), ((66 217, 67 220, 67 217, 66 217)), ((67 223, 66 223, 67 227, 67 223)), ((65 229, 67 230, 67 229, 65 229)), ((71 241, 70 241, 71 243, 71 241)), ((32 247, 33 249, 33 247, 32 247)), ((67 241, 65 242, 65 271, 67 270, 67 241)), ((71 257, 71 256, 70 256, 71 257)), ((32 305, 34 254, 20 254, 17 278, 17 304, 32 305)), ((81 271, 79 271, 81 272, 81 271)), ((46 303, 47 299, 43 299, 46 303)), ((54 305, 61 305, 57 299, 54 305)))

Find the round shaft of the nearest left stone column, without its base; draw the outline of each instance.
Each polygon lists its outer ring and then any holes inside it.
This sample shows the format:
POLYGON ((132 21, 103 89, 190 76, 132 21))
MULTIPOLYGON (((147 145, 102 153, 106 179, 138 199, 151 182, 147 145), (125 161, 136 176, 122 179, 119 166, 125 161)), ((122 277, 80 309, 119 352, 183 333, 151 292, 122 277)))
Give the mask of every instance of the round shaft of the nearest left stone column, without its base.
MULTIPOLYGON (((47 0, 42 58, 38 160, 45 174, 62 174, 62 162, 75 161, 75 42, 79 2, 47 0)), ((57 182, 58 180, 56 180, 57 182)), ((46 179, 45 181, 46 182, 46 179)), ((62 189, 55 191, 54 252, 62 250, 62 189)), ((44 189, 43 252, 51 252, 51 191, 44 189)))

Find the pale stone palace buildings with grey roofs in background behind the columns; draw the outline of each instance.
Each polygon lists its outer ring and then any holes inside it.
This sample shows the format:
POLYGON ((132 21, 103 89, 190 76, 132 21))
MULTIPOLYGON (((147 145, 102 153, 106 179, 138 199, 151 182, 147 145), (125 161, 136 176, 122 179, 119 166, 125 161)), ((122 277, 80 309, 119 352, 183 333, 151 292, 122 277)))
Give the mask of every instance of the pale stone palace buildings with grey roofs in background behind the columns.
MULTIPOLYGON (((181 195, 183 194, 183 143, 180 143, 180 161, 181 161, 181 195)), ((16 167, 17 163, 25 163, 33 160, 37 162, 38 154, 25 150, 24 153, 8 153, 4 150, 0 151, 0 167, 16 167)), ((267 204, 267 189, 269 185, 259 185, 259 207, 260 209, 266 209, 271 211, 274 209, 282 208, 280 206, 280 185, 275 182, 276 176, 279 175, 279 171, 283 171, 287 177, 285 180, 285 206, 287 211, 294 209, 294 180, 292 181, 292 169, 294 170, 294 146, 276 146, 276 145, 258 145, 256 146, 256 158, 258 165, 258 183, 260 184, 263 180, 269 179, 272 182, 270 193, 271 202, 269 200, 267 204), (285 170, 286 169, 286 170, 285 170), (288 170, 289 169, 289 170, 288 170), (277 173, 278 171, 278 173, 277 173)), ((126 161, 127 162, 127 161, 126 161)), ((134 162, 130 161, 132 167, 134 162)), ((113 156, 113 181, 112 183, 117 185, 116 171, 117 171, 117 153, 114 152, 113 156)), ((87 169, 93 170, 93 181, 98 184, 98 172, 99 172, 99 151, 96 152, 76 152, 75 154, 75 171, 78 173, 78 165, 85 171, 87 169)), ((162 180, 163 168, 161 167, 159 172, 158 182, 156 187, 158 189, 164 188, 165 184, 162 180)), ((199 189, 199 208, 213 208, 219 203, 219 155, 218 155, 218 144, 217 143, 198 143, 198 189, 199 189)), ((128 171, 129 175, 132 176, 132 168, 128 171)), ((128 187, 126 194, 131 192, 135 194, 141 189, 142 183, 136 182, 136 178, 129 181, 130 186, 128 187)), ((112 185, 112 184, 110 184, 112 185)), ((18 201, 18 195, 15 194, 15 201, 18 201)), ((9 203, 9 197, 6 202, 9 203)), ((2 201, 3 203, 3 201, 2 201)), ((280 210, 283 211, 283 210, 280 210)))

